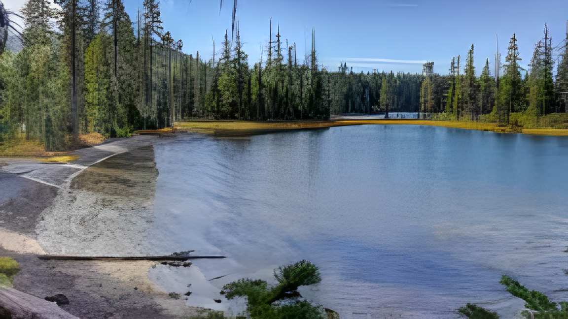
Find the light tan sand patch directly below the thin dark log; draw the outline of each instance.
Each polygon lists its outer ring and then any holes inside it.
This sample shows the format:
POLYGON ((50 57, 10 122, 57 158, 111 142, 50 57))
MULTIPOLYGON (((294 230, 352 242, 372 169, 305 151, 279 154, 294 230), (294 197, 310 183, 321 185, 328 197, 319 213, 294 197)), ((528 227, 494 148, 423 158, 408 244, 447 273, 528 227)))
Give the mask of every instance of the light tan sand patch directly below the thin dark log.
POLYGON ((159 289, 148 279, 148 270, 155 264, 156 262, 152 261, 95 261, 93 268, 102 274, 122 280, 132 288, 154 292, 159 289))

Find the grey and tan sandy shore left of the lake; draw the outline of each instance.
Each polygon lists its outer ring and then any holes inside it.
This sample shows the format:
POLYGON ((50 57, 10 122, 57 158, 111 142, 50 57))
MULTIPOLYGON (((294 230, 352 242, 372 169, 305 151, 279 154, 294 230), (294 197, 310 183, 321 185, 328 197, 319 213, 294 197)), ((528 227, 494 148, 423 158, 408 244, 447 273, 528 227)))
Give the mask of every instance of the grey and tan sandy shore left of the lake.
POLYGON ((107 141, 72 163, 0 158, 0 256, 20 264, 14 288, 80 318, 188 318, 205 310, 148 279, 154 262, 41 261, 40 254, 145 255, 158 171, 156 136, 107 141))

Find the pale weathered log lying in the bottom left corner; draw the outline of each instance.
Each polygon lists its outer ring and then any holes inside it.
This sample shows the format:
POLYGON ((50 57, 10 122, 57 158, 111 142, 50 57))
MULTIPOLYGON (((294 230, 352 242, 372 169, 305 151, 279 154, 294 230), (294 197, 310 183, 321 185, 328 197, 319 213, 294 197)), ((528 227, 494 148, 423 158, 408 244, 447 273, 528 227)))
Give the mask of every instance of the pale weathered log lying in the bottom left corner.
POLYGON ((79 319, 56 303, 0 286, 0 316, 11 319, 79 319))

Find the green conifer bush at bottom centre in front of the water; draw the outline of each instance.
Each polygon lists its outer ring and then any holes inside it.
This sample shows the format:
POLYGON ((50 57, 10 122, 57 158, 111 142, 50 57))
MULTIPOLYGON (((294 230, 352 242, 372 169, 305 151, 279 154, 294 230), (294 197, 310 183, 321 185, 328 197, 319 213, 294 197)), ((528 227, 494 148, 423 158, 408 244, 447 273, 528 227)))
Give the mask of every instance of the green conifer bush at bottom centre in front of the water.
POLYGON ((252 319, 325 319, 323 307, 312 306, 301 299, 299 286, 321 282, 318 267, 299 261, 274 270, 278 284, 269 287, 260 279, 239 279, 226 284, 221 291, 227 299, 247 297, 247 311, 252 319))

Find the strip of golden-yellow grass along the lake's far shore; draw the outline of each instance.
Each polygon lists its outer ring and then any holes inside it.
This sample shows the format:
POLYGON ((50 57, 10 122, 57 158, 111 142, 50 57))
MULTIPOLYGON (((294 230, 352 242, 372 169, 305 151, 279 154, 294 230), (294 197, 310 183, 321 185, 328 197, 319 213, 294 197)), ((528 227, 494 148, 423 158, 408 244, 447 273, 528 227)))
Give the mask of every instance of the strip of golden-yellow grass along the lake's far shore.
MULTIPOLYGON (((286 129, 324 128, 348 125, 429 125, 439 127, 476 129, 478 131, 490 131, 499 133, 522 133, 529 135, 568 136, 568 129, 553 128, 521 128, 511 125, 495 123, 481 123, 474 121, 434 121, 419 119, 373 119, 373 120, 349 120, 337 119, 328 121, 240 121, 240 120, 189 120, 177 122, 174 130, 191 131, 215 136, 248 136, 261 133, 282 131, 286 129)), ((166 130, 139 131, 139 133, 166 133, 166 130)), ((168 132, 172 132, 169 130, 168 132)))

